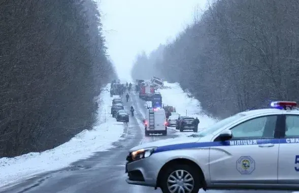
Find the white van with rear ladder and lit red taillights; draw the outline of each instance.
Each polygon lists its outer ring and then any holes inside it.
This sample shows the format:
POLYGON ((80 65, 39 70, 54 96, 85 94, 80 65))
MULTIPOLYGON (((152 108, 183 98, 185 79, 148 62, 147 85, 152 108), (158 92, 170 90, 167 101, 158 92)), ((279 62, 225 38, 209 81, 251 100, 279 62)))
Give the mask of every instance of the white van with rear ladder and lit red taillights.
POLYGON ((145 136, 150 134, 167 135, 167 121, 164 109, 148 108, 144 120, 145 136))

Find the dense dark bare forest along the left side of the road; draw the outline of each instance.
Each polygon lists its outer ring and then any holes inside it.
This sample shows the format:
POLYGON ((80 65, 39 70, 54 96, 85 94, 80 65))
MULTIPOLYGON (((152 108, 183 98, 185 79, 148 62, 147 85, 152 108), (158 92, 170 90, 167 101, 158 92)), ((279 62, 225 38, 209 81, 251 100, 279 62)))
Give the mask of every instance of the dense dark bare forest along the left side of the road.
POLYGON ((90 129, 95 97, 116 78, 97 4, 4 0, 0 28, 0 157, 44 151, 90 129))

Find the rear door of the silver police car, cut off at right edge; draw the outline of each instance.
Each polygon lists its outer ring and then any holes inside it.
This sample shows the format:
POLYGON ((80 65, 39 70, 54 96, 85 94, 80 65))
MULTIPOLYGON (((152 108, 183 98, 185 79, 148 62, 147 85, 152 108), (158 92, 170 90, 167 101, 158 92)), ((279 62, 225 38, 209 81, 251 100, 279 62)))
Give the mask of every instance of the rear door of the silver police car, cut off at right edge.
POLYGON ((279 145, 278 183, 299 184, 299 115, 285 114, 285 132, 279 145))

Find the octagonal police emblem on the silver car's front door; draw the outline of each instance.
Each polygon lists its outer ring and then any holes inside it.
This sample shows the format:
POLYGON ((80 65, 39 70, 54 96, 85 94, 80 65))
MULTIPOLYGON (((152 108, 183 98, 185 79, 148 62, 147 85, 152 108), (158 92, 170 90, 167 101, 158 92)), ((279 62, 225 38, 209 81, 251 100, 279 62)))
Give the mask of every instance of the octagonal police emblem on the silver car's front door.
POLYGON ((241 156, 237 160, 237 170, 240 174, 251 174, 255 169, 255 161, 250 156, 241 156))

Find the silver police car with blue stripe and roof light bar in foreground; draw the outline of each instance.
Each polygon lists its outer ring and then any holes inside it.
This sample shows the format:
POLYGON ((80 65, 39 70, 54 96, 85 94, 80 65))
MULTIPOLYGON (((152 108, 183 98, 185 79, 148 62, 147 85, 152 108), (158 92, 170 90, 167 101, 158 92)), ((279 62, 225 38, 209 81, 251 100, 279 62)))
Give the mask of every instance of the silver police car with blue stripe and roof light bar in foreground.
POLYGON ((273 102, 223 119, 189 141, 152 142, 129 150, 129 184, 163 193, 207 189, 299 190, 299 111, 273 102))

